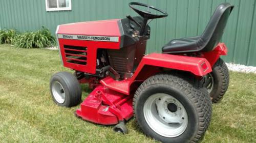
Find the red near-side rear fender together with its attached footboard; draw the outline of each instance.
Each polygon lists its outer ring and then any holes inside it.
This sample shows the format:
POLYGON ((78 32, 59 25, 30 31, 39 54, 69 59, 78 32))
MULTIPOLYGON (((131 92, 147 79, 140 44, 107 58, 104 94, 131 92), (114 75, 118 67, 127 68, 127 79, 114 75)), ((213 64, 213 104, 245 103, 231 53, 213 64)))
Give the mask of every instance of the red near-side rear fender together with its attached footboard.
POLYGON ((133 87, 133 83, 143 82, 146 78, 161 72, 157 67, 187 71, 196 76, 204 76, 211 72, 211 65, 204 58, 151 53, 142 58, 132 78, 117 81, 108 76, 100 80, 100 83, 111 90, 130 95, 131 90, 137 89, 133 87))

